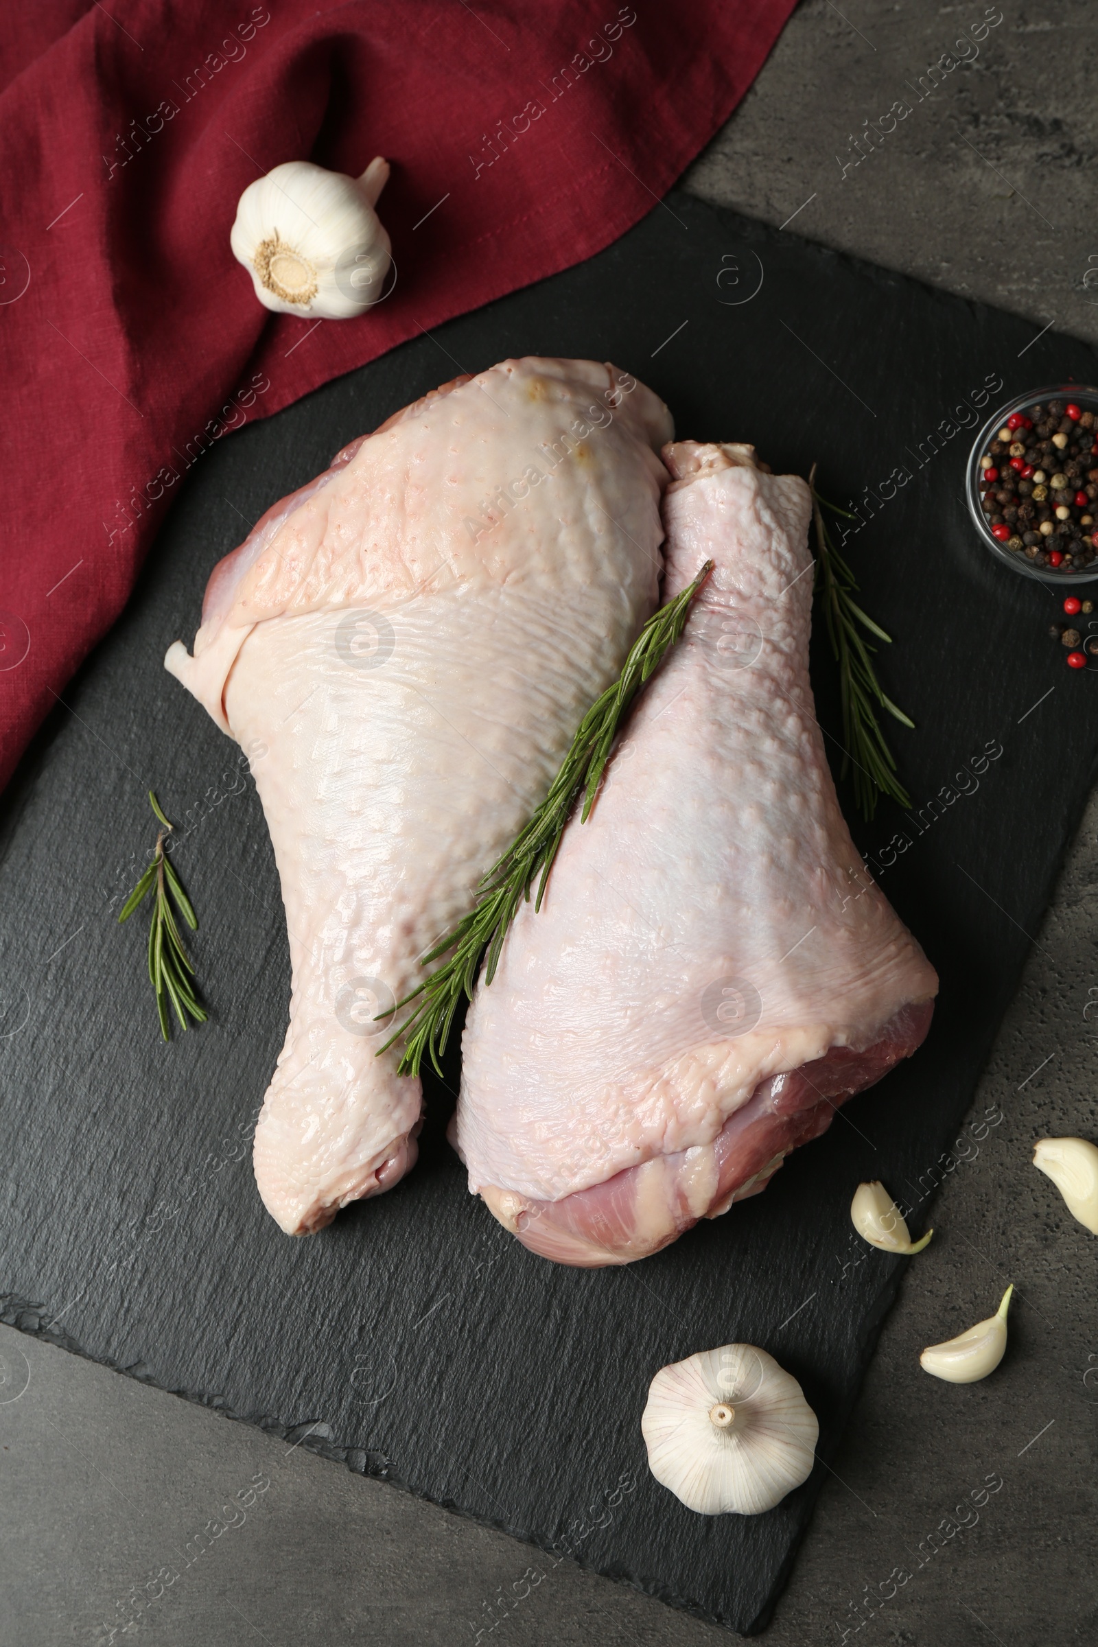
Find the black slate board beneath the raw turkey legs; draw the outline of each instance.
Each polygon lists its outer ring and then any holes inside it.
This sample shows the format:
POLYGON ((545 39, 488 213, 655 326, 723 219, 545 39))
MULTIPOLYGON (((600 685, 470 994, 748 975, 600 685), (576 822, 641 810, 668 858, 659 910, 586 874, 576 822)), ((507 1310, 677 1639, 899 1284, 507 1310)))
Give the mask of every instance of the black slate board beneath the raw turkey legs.
MULTIPOLYGON (((530 1553, 542 1570, 571 1553, 761 1629, 826 1463, 769 1515, 703 1520, 649 1476, 640 1411, 657 1367, 746 1339, 802 1380, 830 1458, 902 1273, 853 1235, 851 1191, 884 1178, 922 1227, 1082 810, 1098 697, 1047 639, 1057 596, 975 540, 971 432, 919 466, 920 441, 988 374, 1003 399, 1095 377, 1072 339, 1027 349, 1035 329, 672 194, 583 267, 214 448, 2 804, 2 1319, 555 1548, 530 1553), (942 975, 930 1039, 765 1196, 626 1270, 555 1268, 466 1194, 444 1141, 453 1057, 448 1085, 428 1080, 420 1164, 395 1192, 309 1240, 275 1229, 249 1138, 285 1031, 278 881, 235 746, 161 669, 194 632, 209 568, 275 497, 458 369, 527 352, 612 359, 668 400, 682 435, 752 440, 779 469, 820 460, 840 501, 910 471, 848 553, 897 637, 886 684, 919 721, 896 730, 904 781, 917 809, 943 804, 922 827, 884 805, 856 837, 942 975), (988 746, 1001 754, 981 771, 988 746), (150 845, 150 786, 191 825, 178 863, 212 1005, 170 1047, 138 922, 114 919, 150 845)), ((813 679, 835 735, 820 636, 813 679)), ((517 1551, 512 1606, 525 1565, 517 1551)), ((471 1634, 495 1617, 486 1599, 471 1634)))

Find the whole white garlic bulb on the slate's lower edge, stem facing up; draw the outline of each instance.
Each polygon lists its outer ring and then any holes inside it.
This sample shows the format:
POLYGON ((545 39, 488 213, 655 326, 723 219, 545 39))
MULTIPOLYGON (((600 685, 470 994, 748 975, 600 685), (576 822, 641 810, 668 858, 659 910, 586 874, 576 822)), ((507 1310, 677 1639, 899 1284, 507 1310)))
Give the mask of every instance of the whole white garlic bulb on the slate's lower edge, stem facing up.
POLYGON ((790 1377, 752 1344, 660 1367, 640 1420, 649 1469, 700 1515, 757 1515, 812 1474, 820 1425, 790 1377))

